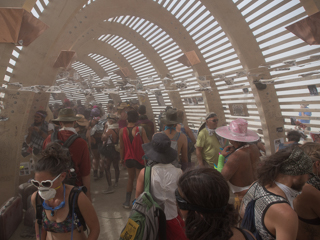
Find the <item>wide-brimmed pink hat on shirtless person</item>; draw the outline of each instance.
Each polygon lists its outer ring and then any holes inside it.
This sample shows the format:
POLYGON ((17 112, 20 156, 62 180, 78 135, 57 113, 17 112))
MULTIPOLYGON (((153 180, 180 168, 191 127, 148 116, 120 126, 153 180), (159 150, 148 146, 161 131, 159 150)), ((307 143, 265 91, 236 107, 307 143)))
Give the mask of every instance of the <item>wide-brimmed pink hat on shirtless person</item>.
POLYGON ((242 118, 232 121, 229 126, 217 128, 216 134, 237 142, 256 142, 260 138, 256 132, 248 130, 248 122, 242 118))

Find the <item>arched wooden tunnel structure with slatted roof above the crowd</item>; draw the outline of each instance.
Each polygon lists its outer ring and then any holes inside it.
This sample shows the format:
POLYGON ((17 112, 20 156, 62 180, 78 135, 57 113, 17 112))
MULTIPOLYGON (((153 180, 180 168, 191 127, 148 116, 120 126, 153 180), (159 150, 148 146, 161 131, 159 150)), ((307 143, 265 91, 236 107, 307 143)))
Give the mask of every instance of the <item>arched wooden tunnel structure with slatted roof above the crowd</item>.
POLYGON ((17 191, 35 111, 65 97, 139 99, 151 119, 172 105, 194 129, 207 112, 219 125, 241 116, 268 154, 290 117, 320 129, 318 0, 1 0, 0 9, 0 205, 17 191), (88 94, 70 79, 98 87, 88 94), (142 89, 112 92, 119 80, 142 89), (57 84, 60 97, 30 89, 57 84), (311 117, 298 117, 302 101, 311 117))

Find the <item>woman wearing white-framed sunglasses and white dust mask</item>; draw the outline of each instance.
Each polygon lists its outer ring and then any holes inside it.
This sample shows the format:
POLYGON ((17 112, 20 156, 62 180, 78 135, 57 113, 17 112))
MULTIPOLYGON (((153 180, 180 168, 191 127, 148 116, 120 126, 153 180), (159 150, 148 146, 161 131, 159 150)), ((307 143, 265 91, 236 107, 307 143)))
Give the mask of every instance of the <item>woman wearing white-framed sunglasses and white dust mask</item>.
POLYGON ((31 197, 36 209, 35 230, 37 240, 41 239, 87 239, 84 229, 90 229, 89 238, 98 239, 100 228, 96 212, 88 197, 80 192, 77 206, 84 218, 75 213, 74 186, 64 184, 70 168, 70 156, 59 143, 49 143, 43 157, 35 165, 35 177, 31 183, 37 187, 31 197), (68 204, 69 203, 69 204, 68 204), (39 214, 40 213, 40 214, 39 214), (39 215, 42 216, 39 218, 39 215))

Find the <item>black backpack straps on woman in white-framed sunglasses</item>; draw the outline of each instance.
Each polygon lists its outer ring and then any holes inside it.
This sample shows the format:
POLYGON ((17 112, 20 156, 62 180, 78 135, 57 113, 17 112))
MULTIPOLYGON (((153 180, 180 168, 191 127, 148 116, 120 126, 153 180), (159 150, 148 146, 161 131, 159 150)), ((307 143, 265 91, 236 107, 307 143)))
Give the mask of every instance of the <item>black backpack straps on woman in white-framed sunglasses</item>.
MULTIPOLYGON (((82 226, 83 227, 83 231, 87 230, 87 224, 84 220, 84 217, 81 214, 80 208, 78 206, 78 197, 80 195, 80 193, 86 193, 87 192, 87 188, 82 186, 82 187, 73 187, 70 191, 69 194, 69 213, 70 215, 72 215, 72 221, 75 223, 75 225, 78 227, 82 226), (72 206, 70 208, 70 206, 72 206), (80 223, 80 224, 79 224, 80 223)), ((40 236, 40 240, 41 240, 41 229, 42 229, 42 211, 43 211, 43 199, 39 196, 39 193, 37 192, 36 195, 36 220, 39 226, 39 236, 40 236)), ((72 231, 73 234, 73 231, 72 231)))

